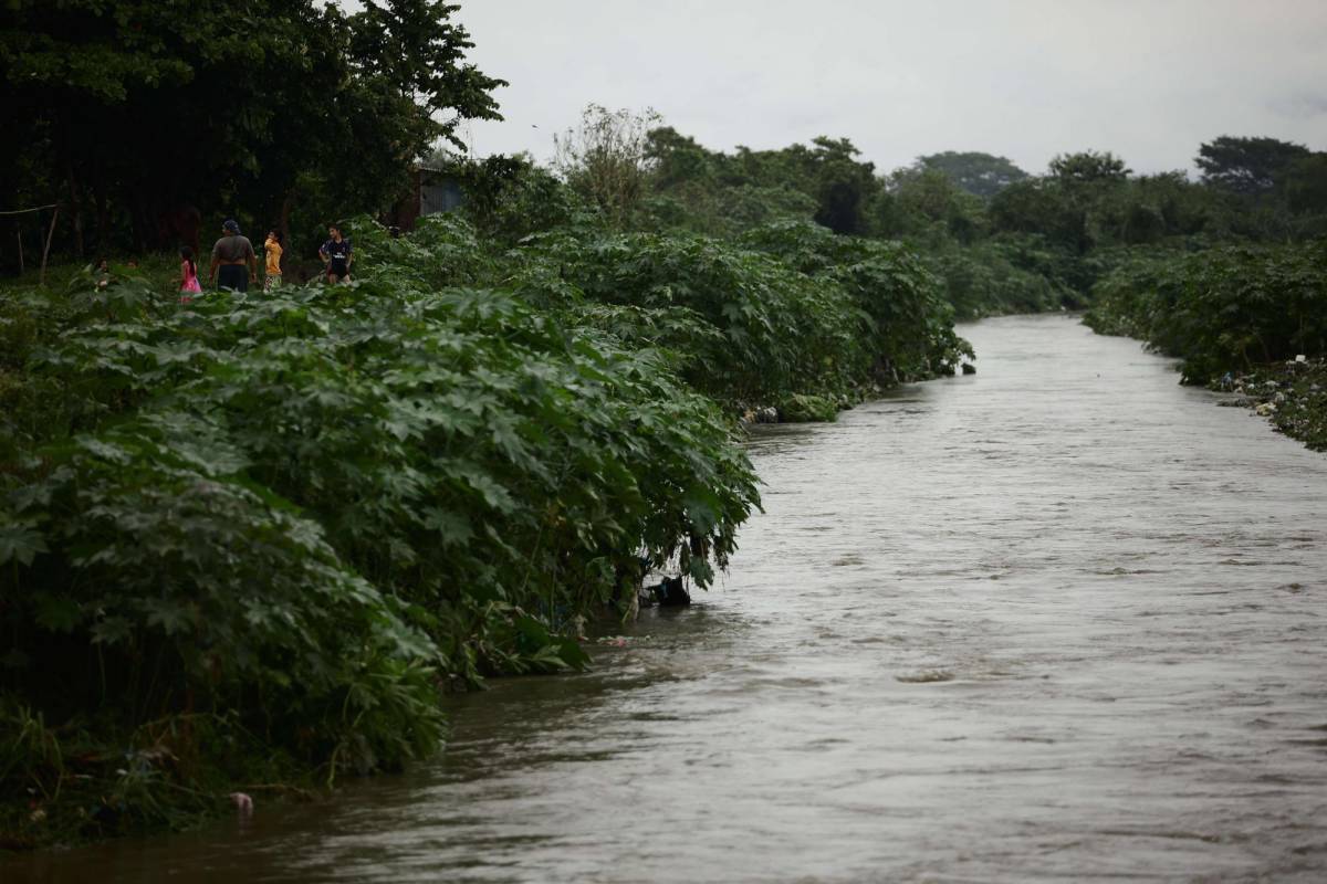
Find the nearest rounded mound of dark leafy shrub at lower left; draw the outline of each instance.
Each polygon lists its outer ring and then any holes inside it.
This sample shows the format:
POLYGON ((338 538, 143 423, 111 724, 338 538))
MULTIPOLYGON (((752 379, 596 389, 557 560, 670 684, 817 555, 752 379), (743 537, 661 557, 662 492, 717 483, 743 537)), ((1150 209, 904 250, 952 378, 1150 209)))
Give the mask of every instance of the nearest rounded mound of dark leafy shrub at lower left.
MULTIPOLYGON (((50 691, 46 709, 68 717, 119 696, 146 712, 230 709, 261 685, 253 713, 288 738, 376 728, 389 742, 366 749, 387 765, 437 744, 437 713, 378 725, 385 706, 356 692, 430 672, 431 644, 316 522, 238 476, 244 457, 218 427, 149 414, 42 455, 9 494, 0 563, 17 573, 8 664, 50 691)), ((433 708, 429 683, 414 689, 433 708)))

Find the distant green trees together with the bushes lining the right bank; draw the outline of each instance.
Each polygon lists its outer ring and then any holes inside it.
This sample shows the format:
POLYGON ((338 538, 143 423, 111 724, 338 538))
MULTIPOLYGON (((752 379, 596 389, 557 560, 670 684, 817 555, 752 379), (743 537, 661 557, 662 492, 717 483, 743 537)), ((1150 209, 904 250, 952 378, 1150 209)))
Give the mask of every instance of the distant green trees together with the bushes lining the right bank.
POLYGON ((901 241, 959 318, 1093 306, 1093 327, 1182 357, 1194 383, 1327 355, 1327 154, 1302 144, 1214 138, 1198 180, 1092 150, 1040 175, 953 151, 880 175, 845 139, 721 152, 661 123, 591 106, 555 170, 616 228, 740 243, 802 221, 901 241))

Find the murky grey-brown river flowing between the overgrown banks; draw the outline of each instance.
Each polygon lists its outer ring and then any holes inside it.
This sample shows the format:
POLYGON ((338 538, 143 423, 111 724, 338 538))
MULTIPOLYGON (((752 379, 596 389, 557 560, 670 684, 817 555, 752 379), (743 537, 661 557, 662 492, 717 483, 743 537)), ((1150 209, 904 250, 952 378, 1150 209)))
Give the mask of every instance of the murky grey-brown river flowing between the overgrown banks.
POLYGON ((766 512, 445 755, 15 881, 1327 880, 1327 457, 1070 317, 756 432, 766 512))

